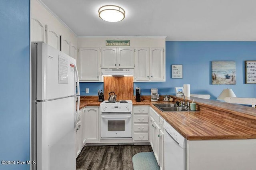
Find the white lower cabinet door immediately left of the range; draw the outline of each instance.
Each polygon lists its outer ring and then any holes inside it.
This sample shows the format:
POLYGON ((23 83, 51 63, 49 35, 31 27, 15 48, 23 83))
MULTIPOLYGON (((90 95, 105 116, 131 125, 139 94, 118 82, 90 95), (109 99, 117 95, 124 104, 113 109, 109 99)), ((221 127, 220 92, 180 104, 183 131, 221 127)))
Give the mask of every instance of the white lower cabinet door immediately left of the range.
POLYGON ((82 145, 99 140, 99 107, 82 109, 82 145))

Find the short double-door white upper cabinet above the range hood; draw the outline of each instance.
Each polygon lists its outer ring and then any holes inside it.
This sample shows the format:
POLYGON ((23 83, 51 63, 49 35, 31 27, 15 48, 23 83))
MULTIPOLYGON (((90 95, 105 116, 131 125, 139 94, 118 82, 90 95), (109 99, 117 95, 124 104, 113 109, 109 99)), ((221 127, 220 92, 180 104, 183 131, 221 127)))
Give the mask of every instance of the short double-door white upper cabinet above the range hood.
POLYGON ((102 69, 134 68, 134 48, 132 47, 102 47, 102 69))

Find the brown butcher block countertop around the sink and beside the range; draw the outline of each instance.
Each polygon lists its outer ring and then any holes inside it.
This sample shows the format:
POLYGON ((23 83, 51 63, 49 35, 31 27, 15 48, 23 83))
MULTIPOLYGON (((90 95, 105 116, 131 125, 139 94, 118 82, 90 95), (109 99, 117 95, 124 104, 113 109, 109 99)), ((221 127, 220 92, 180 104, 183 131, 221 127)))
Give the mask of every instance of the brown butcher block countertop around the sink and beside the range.
MULTIPOLYGON (((174 96, 173 96, 174 97, 174 96)), ((256 108, 234 105, 214 100, 194 99, 197 111, 162 112, 153 104, 174 103, 167 101, 133 101, 133 105, 150 105, 162 118, 174 127, 187 140, 250 139, 256 138, 256 108)), ((174 101, 183 98, 174 97, 174 101)), ((80 100, 80 108, 99 106, 94 100, 80 100)))

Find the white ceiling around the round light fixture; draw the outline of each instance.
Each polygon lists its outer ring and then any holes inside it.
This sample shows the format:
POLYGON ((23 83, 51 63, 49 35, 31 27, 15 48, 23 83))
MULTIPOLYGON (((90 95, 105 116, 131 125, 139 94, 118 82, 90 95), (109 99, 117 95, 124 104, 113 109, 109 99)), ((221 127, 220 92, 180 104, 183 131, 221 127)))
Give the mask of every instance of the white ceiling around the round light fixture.
POLYGON ((168 41, 256 41, 256 0, 42 0, 77 36, 167 36, 168 41), (104 5, 126 11, 111 23, 104 5))

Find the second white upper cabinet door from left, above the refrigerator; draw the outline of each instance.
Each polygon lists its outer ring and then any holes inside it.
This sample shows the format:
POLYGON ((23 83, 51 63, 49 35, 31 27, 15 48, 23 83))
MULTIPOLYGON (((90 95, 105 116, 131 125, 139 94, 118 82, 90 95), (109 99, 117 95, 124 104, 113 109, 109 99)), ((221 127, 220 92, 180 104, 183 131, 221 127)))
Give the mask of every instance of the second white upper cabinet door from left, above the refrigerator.
POLYGON ((60 34, 48 25, 46 25, 46 43, 60 50, 60 34))

